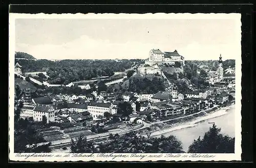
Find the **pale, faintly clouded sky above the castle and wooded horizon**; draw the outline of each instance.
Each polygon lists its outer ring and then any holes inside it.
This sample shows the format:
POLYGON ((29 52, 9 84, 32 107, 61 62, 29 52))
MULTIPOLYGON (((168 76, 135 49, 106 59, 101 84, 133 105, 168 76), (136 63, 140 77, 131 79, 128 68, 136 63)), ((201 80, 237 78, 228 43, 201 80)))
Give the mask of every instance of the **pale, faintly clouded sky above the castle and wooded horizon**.
POLYGON ((239 33, 234 19, 18 18, 15 51, 36 59, 146 59, 159 49, 226 60, 241 58, 239 33))

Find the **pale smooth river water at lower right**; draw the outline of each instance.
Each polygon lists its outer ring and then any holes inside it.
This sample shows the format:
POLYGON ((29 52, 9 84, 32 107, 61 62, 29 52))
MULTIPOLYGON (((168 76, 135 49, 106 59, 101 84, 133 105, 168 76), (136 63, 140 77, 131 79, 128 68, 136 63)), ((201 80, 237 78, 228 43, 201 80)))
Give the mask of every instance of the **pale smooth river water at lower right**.
MULTIPOLYGON (((183 145, 183 150, 185 152, 188 151, 188 147, 191 145, 191 143, 194 141, 194 139, 197 139, 199 136, 201 138, 204 136, 205 132, 209 130, 211 127, 211 124, 214 122, 215 125, 218 128, 221 128, 221 133, 226 134, 230 137, 234 137, 234 122, 235 122, 235 113, 234 113, 234 106, 228 109, 228 113, 225 115, 221 115, 216 118, 210 118, 205 121, 202 121, 200 123, 197 123, 194 127, 187 127, 179 130, 175 130, 172 132, 167 132, 162 135, 169 136, 174 135, 176 136, 183 145)), ((156 137, 159 137, 161 135, 158 135, 156 137)))

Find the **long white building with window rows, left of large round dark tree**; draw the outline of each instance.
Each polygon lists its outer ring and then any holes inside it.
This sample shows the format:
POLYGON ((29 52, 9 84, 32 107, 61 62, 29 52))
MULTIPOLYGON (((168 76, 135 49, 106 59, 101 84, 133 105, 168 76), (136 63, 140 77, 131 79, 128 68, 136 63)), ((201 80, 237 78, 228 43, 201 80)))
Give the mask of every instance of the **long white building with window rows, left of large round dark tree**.
POLYGON ((104 112, 110 113, 110 103, 95 103, 92 102, 88 105, 88 112, 93 116, 93 120, 97 120, 98 116, 104 116, 104 112))

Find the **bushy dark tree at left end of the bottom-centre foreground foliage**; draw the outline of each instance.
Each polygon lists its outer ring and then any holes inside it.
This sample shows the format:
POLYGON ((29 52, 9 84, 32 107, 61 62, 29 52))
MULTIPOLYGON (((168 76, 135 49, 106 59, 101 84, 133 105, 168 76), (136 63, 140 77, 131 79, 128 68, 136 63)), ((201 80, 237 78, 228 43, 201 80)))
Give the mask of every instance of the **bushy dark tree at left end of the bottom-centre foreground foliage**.
POLYGON ((96 153, 97 149, 94 146, 92 140, 88 141, 86 136, 80 135, 75 139, 71 138, 70 153, 96 153))

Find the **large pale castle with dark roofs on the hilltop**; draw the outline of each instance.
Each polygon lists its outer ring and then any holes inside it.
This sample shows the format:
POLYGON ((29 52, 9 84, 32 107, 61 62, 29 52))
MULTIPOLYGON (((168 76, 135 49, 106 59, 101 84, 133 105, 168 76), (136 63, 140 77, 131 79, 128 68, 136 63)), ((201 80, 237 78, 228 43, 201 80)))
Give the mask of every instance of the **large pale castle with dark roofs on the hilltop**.
POLYGON ((145 61, 145 64, 154 65, 154 64, 169 64, 173 65, 175 62, 181 62, 183 66, 185 65, 184 57, 181 56, 177 50, 174 52, 162 52, 159 49, 153 49, 149 53, 148 59, 145 61))

